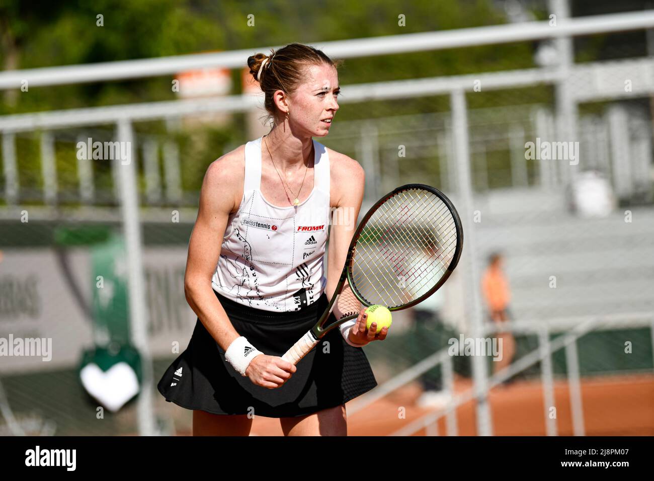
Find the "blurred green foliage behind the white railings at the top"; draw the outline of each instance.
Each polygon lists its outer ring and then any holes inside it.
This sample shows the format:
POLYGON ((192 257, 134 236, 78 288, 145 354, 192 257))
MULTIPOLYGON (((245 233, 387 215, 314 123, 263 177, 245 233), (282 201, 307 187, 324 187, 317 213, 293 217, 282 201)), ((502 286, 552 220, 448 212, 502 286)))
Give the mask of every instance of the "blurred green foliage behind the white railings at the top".
MULTIPOLYGON (((325 41, 442 31, 505 23, 491 0, 323 0, 311 8, 281 0, 243 2, 214 0, 97 0, 55 3, 0 0, 3 69, 92 64, 156 58, 220 50, 251 49, 292 42, 320 46, 325 41), (102 26, 99 26, 101 16, 102 26), (400 26, 404 16, 405 26, 400 26), (254 22, 254 26, 252 26, 254 22), (13 63, 12 63, 13 62, 13 63)), ((246 67, 247 55, 243 57, 246 67)), ((533 67, 532 44, 475 46, 455 50, 411 52, 347 59, 339 69, 343 98, 347 85, 381 80, 419 79, 464 75, 480 71, 533 67)), ((120 105, 177 99, 171 90, 173 75, 37 87, 0 96, 0 115, 101 105, 120 105)), ((233 94, 241 92, 240 72, 233 71, 233 94)), ((545 94, 545 97, 548 95, 545 94)), ((471 107, 510 103, 510 95, 470 95, 471 107)), ((538 94, 536 97, 542 98, 538 94)), ((341 120, 449 111, 447 96, 387 99, 356 103, 341 109, 341 120)), ((178 136, 182 185, 199 189, 204 171, 215 158, 248 139, 242 138, 241 115, 227 127, 210 123, 182 129, 178 136)), ((108 126, 107 126, 108 127, 108 126)), ((107 128, 105 127, 105 128, 107 128)), ((137 135, 170 135, 163 122, 134 124, 137 135)), ((112 127, 110 127, 112 128, 112 127)), ((163 140, 164 137, 161 139, 163 140)), ((39 169, 38 139, 18 146, 21 175, 24 168, 39 169), (29 147, 29 148, 28 148, 29 147), (23 155, 21 152, 25 152, 23 155), (33 159, 34 166, 25 162, 33 159)), ((58 141, 56 162, 60 188, 75 190, 78 183, 75 144, 58 141)), ((140 155, 137 152, 137 155, 140 155)), ((102 161, 100 161, 102 162, 102 161)), ((106 162, 105 162, 106 164, 106 162)), ((108 189, 108 169, 94 165, 98 190, 108 189)), ((108 164, 107 164, 108 165, 108 164)), ((434 164, 434 169, 438 168, 434 164)), ((434 175, 439 175, 434 171, 434 175)), ((39 175, 35 175, 39 179, 39 175)), ((21 179, 21 182, 23 179, 21 179)), ((143 175, 139 175, 143 187, 143 175)), ((22 184, 24 185, 24 184, 22 184)), ((26 186, 27 187, 27 186, 26 186)), ((41 186, 33 186, 39 189, 41 186)))

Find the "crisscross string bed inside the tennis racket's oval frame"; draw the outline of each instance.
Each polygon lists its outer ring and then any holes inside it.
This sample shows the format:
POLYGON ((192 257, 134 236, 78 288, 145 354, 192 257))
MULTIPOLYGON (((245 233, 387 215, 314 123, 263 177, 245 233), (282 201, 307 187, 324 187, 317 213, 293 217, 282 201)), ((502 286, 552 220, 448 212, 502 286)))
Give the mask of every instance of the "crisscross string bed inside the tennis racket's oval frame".
POLYGON ((455 255, 447 204, 419 188, 398 192, 370 217, 356 243, 351 277, 371 304, 407 304, 443 277, 455 255))

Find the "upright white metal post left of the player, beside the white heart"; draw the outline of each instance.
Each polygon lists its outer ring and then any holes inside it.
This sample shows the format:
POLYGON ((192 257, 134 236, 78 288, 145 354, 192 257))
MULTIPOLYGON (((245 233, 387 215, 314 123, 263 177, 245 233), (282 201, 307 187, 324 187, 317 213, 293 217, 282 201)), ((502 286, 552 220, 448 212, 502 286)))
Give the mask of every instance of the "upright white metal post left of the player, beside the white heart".
MULTIPOLYGON (((129 120, 118 122, 118 141, 131 146, 133 130, 129 120)), ((141 225, 139 224, 139 198, 136 183, 136 162, 133 152, 129 152, 129 162, 113 160, 120 177, 120 210, 127 247, 128 286, 129 286, 129 326, 134 346, 141 354, 143 385, 137 400, 137 419, 139 435, 152 436, 156 433, 152 391, 154 387, 152 357, 148 344, 148 311, 145 299, 145 277, 141 250, 141 225)))

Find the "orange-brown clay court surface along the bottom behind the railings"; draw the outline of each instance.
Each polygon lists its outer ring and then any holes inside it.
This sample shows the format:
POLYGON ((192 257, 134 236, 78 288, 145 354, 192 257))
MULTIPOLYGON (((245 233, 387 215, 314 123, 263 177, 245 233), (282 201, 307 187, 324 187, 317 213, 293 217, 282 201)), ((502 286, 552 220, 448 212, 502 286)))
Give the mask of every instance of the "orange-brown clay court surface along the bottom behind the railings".
MULTIPOLYGON (((457 380, 456 391, 469 389, 470 380, 457 380)), ((386 436, 402 429, 411 421, 430 412, 415 406, 420 394, 417 385, 409 385, 368 408, 348 416, 349 436, 386 436), (398 418, 404 406, 405 419, 398 418)), ((632 376, 602 376, 581 382, 585 435, 587 436, 652 436, 654 435, 654 374, 632 376)), ((560 436, 571 436, 572 416, 566 381, 555 382, 557 426, 560 436)), ((490 391, 493 434, 496 436, 544 436, 545 408, 542 384, 538 381, 518 381, 490 391)), ((346 404, 346 408, 349 403, 346 404)), ((476 435, 473 402, 456 411, 458 434, 476 435)), ((438 434, 445 435, 445 421, 438 422, 438 434)), ((188 433, 187 433, 188 434, 188 433)), ((283 435, 279 421, 255 418, 251 435, 283 435)), ((424 436, 425 430, 415 433, 424 436)))

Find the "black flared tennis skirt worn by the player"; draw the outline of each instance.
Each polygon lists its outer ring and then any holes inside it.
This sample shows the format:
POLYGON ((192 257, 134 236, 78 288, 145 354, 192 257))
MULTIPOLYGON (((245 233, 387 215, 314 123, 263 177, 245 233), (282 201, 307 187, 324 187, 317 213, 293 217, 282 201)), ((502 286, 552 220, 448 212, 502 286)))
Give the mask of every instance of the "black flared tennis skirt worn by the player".
MULTIPOLYGON (((234 329, 262 353, 275 356, 282 356, 311 329, 329 304, 323 293, 300 311, 269 312, 214 293, 234 329)), ((363 349, 347 344, 337 328, 296 367, 281 387, 255 385, 225 361, 224 349, 198 319, 188 347, 167 368, 157 388, 166 401, 186 409, 292 418, 340 406, 377 385, 363 349)))

